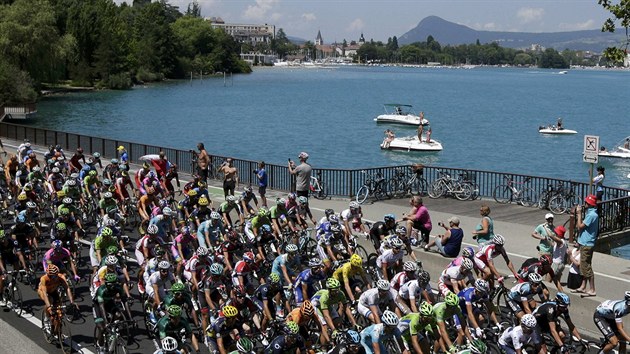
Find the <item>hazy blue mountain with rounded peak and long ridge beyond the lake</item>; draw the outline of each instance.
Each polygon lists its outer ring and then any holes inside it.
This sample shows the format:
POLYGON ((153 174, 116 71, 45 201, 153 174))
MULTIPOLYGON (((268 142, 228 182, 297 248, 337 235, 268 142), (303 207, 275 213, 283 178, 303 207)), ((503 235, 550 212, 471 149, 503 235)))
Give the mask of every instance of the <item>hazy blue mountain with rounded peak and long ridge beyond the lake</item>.
POLYGON ((539 44, 558 51, 572 49, 594 52, 602 52, 606 47, 618 45, 623 39, 623 35, 619 33, 600 30, 549 33, 477 31, 437 16, 429 16, 420 21, 416 28, 400 36, 398 44, 424 42, 429 35, 441 45, 472 44, 479 40, 482 44, 497 42, 507 48, 530 48, 532 44, 539 44))

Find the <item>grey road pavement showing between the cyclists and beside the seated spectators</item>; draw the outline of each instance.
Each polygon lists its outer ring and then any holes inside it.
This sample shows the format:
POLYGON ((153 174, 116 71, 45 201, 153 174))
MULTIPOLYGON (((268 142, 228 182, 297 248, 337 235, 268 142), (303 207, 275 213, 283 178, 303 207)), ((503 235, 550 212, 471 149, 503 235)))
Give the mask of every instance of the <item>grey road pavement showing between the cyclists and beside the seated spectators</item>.
MULTIPOLYGON (((15 141, 8 141, 4 139, 4 145, 7 151, 15 151, 15 148, 19 143, 15 141)), ((43 148, 36 148, 37 152, 43 152, 43 148)), ((106 153, 107 154, 107 153, 106 153)), ((133 166, 132 166, 133 168, 133 166)), ((189 176, 182 175, 182 185, 184 181, 188 180, 189 176)), ((222 190, 219 188, 219 181, 210 181, 211 197, 215 202, 222 200, 222 190)), ((282 191, 268 191, 268 200, 274 200, 276 196, 284 196, 285 192, 282 191)), ((332 198, 325 201, 316 200, 311 198, 311 208, 315 214, 315 218, 319 219, 323 215, 323 211, 326 208, 333 208, 336 212, 340 212, 346 209, 348 206, 348 199, 344 198, 332 198)), ((470 235, 470 231, 475 228, 479 223, 481 217, 479 215, 479 206, 485 203, 492 209, 491 216, 495 221, 495 232, 500 233, 506 238, 506 248, 510 259, 514 263, 515 268, 519 268, 521 263, 530 257, 536 257, 537 251, 535 249, 538 241, 532 238, 531 232, 534 227, 544 220, 544 214, 546 211, 536 208, 525 208, 516 205, 500 205, 493 200, 477 200, 477 201, 457 201, 452 199, 430 199, 424 198, 425 205, 430 211, 431 218, 433 220, 434 232, 437 234, 441 231, 441 227, 437 226, 438 221, 446 221, 450 216, 456 215, 461 220, 461 227, 464 230, 465 238, 464 245, 476 246, 474 240, 470 235)), ((363 205, 364 219, 367 221, 378 221, 386 213, 394 213, 397 218, 400 218, 403 213, 407 213, 409 210, 408 198, 397 200, 386 200, 375 203, 366 202, 363 205)), ((567 220, 566 216, 556 217, 556 224, 559 225, 567 220)), ((373 251, 373 247, 366 240, 361 240, 361 243, 369 251, 373 251)), ((424 268, 429 271, 432 276, 432 282, 435 287, 435 282, 440 272, 450 262, 450 259, 444 258, 434 252, 425 252, 420 249, 415 249, 418 259, 423 261, 424 268)), ((509 274, 504 262, 500 259, 497 260, 498 269, 504 273, 509 274)), ((598 338, 599 332, 595 328, 592 321, 592 314, 595 307, 606 299, 621 299, 623 293, 626 290, 630 290, 630 260, 612 257, 605 254, 597 253, 593 260, 593 267, 596 271, 596 288, 597 296, 589 298, 580 298, 577 294, 570 294, 572 305, 570 308, 571 317, 578 328, 589 335, 589 337, 598 338)), ((568 269, 565 269, 563 281, 566 281, 568 269)), ((508 287, 511 284, 506 284, 508 287)), ((553 285, 549 285, 552 293, 555 293, 553 285)), ((568 289, 565 288, 565 291, 568 289)), ((26 300, 26 296, 25 296, 26 300)), ((87 302, 87 301, 86 301, 87 302)), ((134 306, 135 307, 135 306, 134 306)), ((89 315, 88 315, 89 316, 89 315)), ((0 318, 7 319, 6 314, 1 315, 0 318)), ((90 317, 86 318, 87 322, 91 321, 90 317)), ((15 320, 20 321, 20 320, 15 320)), ((14 320, 11 319, 10 323, 13 324, 14 320)), ((630 325, 630 321, 626 319, 624 321, 626 325, 630 325)), ((23 327, 20 325, 20 327, 23 327)), ((86 332, 90 333, 93 324, 89 325, 90 329, 86 332)), ((31 330, 23 333, 27 334, 29 338, 34 336, 41 336, 39 331, 34 327, 31 330)), ((1 337, 8 338, 3 333, 1 337)), ((91 338, 86 334, 85 342, 90 342, 91 338)), ((37 342, 40 340, 35 339, 37 342)), ((0 348, 0 352, 2 352, 0 348)), ((89 352, 89 351, 86 351, 89 352)))

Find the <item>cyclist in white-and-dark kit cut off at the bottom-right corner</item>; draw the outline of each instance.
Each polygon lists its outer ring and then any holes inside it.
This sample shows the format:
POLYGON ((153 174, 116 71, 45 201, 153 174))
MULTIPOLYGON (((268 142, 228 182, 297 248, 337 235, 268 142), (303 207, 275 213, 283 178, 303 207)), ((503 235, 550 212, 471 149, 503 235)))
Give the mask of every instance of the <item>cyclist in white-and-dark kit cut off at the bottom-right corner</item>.
POLYGON ((626 342, 630 341, 630 335, 623 328, 623 317, 628 313, 630 313, 630 291, 625 292, 623 300, 606 300, 597 306, 593 321, 607 341, 600 353, 609 353, 617 344, 619 344, 619 353, 626 352, 626 342))

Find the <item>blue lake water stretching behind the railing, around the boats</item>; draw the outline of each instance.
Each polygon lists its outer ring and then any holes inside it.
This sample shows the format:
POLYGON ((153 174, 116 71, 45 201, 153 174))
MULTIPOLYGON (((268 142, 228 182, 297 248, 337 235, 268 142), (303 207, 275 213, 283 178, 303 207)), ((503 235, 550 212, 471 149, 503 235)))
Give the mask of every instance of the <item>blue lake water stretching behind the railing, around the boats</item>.
MULTIPOLYGON (((130 91, 42 99, 32 124, 272 163, 311 154, 319 167, 423 162, 586 181, 584 134, 611 146, 630 135, 630 72, 507 68, 263 68, 130 91), (431 120, 438 153, 384 152, 382 103, 413 104, 431 120), (541 136, 564 118, 573 136, 541 136)), ((630 188, 630 164, 604 163, 607 184, 630 188)))

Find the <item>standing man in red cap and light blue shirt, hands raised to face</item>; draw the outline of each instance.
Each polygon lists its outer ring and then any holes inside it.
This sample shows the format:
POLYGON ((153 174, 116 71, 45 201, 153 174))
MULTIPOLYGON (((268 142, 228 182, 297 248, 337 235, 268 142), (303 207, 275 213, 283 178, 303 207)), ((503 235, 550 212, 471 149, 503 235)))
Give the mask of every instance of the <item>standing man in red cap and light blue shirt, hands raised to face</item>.
POLYGON ((580 232, 578 236, 578 244, 580 245, 580 275, 582 276, 582 285, 573 290, 575 293, 582 293, 582 296, 595 296, 595 274, 593 273, 593 249, 597 241, 597 225, 599 215, 597 215, 597 197, 590 194, 584 198, 584 206, 586 213, 582 219, 582 206, 578 205, 577 212, 577 228, 580 232), (587 285, 590 288, 587 289, 587 285))

